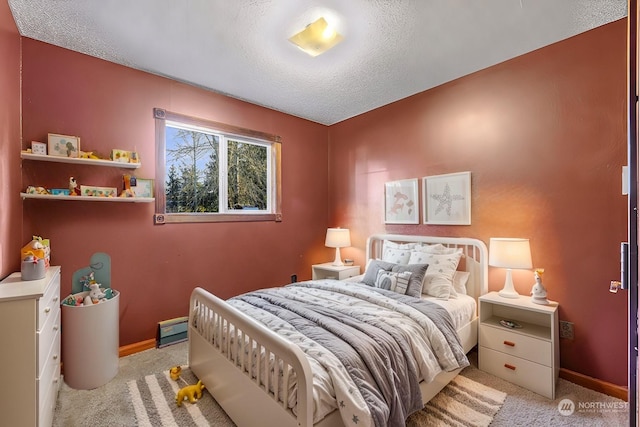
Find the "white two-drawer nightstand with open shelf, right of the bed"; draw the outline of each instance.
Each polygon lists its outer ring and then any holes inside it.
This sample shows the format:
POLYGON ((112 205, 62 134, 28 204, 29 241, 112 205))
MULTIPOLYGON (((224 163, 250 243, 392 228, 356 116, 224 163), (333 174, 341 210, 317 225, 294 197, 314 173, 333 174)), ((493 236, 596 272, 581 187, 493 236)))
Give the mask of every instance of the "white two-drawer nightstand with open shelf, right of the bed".
POLYGON ((503 298, 490 292, 479 298, 478 367, 555 399, 560 370, 558 303, 535 304, 531 297, 503 298), (512 320, 522 328, 507 328, 512 320))

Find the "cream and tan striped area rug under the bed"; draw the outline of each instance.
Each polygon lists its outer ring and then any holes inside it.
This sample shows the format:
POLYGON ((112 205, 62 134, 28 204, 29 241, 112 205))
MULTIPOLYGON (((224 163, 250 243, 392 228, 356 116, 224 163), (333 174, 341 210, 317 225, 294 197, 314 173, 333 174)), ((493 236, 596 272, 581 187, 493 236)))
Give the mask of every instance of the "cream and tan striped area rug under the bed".
MULTIPOLYGON (((176 393, 198 379, 187 367, 178 381, 165 371, 129 381, 129 396, 138 426, 233 426, 218 403, 207 392, 197 403, 176 405, 176 393)), ((454 378, 424 409, 407 420, 410 427, 488 426, 504 403, 506 393, 462 375, 454 378)), ((266 425, 266 424, 265 424, 266 425)))

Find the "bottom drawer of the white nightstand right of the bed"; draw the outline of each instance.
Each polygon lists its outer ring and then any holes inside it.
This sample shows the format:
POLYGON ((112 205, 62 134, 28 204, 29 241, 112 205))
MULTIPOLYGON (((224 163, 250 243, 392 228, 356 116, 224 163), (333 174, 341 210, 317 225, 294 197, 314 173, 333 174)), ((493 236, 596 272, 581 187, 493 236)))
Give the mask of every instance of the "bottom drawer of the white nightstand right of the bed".
POLYGON ((549 366, 479 346, 478 367, 549 399, 555 398, 555 378, 549 366))

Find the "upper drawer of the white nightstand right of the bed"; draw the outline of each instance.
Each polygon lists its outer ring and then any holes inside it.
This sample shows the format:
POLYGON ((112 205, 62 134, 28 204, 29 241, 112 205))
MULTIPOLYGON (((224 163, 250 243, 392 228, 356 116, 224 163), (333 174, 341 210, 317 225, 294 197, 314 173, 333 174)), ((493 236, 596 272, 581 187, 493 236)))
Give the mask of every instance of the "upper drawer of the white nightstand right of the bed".
POLYGON ((553 349, 550 341, 481 324, 478 344, 541 365, 552 366, 553 349))

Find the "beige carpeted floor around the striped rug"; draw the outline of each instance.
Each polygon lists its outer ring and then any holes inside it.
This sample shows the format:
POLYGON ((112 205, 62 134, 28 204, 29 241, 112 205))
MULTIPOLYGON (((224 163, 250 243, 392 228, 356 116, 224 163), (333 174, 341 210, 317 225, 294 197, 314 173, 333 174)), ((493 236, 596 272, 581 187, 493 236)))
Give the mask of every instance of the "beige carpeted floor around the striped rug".
MULTIPOLYGON (((472 366, 464 376, 507 394, 491 426, 625 426, 629 424, 626 403, 585 389, 568 381, 558 381, 553 401, 503 381, 477 369, 476 353, 470 353, 472 366), (562 415, 558 410, 563 399, 570 399, 575 411, 562 415)), ((120 359, 118 375, 95 390, 73 390, 62 384, 54 415, 55 427, 136 426, 134 403, 129 398, 128 383, 163 372, 171 366, 187 364, 187 344, 147 350, 120 359)), ((188 404, 185 404, 188 405, 188 404)), ((566 407, 566 406, 565 406, 566 407)), ((566 412, 565 412, 566 413, 566 412)), ((232 426, 228 419, 212 425, 232 426)), ((429 426, 431 427, 431 426, 429 426)))

